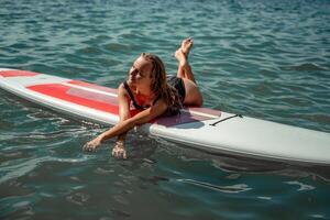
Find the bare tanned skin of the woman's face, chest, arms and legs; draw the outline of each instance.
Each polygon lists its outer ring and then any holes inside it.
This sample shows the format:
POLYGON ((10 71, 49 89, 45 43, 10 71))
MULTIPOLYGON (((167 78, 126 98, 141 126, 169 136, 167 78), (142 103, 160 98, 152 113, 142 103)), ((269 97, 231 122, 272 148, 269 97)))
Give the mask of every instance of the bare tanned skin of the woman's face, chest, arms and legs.
MULTIPOLYGON (((193 47, 193 40, 184 40, 182 46, 176 51, 175 57, 178 61, 177 76, 183 78, 186 89, 184 105, 201 106, 202 97, 196 85, 191 67, 188 63, 188 54, 193 47)), ((152 64, 140 56, 129 72, 128 85, 133 92, 135 100, 141 106, 150 106, 134 117, 130 116, 131 98, 121 84, 118 88, 119 99, 119 122, 113 128, 101 133, 84 146, 84 151, 95 151, 100 144, 111 138, 118 136, 117 143, 112 150, 112 155, 117 158, 127 158, 124 139, 128 131, 136 125, 147 123, 148 121, 162 116, 167 110, 167 105, 163 99, 155 103, 155 95, 151 90, 152 84, 152 64)))

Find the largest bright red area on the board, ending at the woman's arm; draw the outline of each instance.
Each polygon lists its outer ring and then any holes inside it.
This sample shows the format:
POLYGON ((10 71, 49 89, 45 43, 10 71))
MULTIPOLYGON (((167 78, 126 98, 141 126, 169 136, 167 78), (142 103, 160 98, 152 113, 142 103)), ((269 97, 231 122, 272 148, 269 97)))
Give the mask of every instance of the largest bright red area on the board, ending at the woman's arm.
POLYGON ((91 99, 82 98, 82 97, 77 97, 67 94, 67 91, 70 89, 69 86, 64 86, 59 84, 46 84, 46 85, 36 85, 36 86, 30 86, 26 87, 28 89, 31 89, 33 91, 37 91, 43 95, 47 95, 50 97, 54 97, 57 99, 62 99, 68 102, 77 103, 80 106, 89 107, 92 109, 97 109, 100 111, 118 114, 118 105, 110 105, 110 103, 105 103, 100 101, 95 101, 91 99))

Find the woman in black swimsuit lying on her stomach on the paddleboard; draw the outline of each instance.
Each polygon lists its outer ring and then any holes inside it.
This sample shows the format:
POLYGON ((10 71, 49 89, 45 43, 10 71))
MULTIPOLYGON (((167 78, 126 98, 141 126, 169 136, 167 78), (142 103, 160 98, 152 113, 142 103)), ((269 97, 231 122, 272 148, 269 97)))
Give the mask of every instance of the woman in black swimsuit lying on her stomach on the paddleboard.
POLYGON ((178 113, 183 105, 201 106, 202 97, 188 63, 193 40, 186 38, 175 52, 178 61, 177 76, 167 77, 165 66, 154 54, 141 54, 129 72, 128 80, 118 88, 119 122, 85 144, 85 151, 95 151, 100 144, 118 136, 112 155, 127 158, 124 139, 128 131, 135 125, 147 123, 162 114, 178 113), (141 110, 130 116, 131 103, 141 110))

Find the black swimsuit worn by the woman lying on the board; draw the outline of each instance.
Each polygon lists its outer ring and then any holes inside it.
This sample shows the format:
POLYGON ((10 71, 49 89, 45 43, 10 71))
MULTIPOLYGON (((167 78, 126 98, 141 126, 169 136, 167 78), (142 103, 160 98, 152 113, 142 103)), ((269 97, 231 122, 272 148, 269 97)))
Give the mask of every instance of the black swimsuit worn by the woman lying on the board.
MULTIPOLYGON (((176 76, 169 76, 169 77, 167 77, 167 82, 168 82, 169 86, 174 87, 177 90, 182 102, 184 102, 185 97, 186 97, 186 89, 185 89, 184 80, 179 77, 176 77, 176 76)), ((138 101, 134 98, 134 95, 133 95, 132 90, 130 89, 130 87, 128 85, 128 81, 124 81, 123 85, 124 85, 124 88, 127 89, 127 91, 129 92, 129 96, 130 96, 135 109, 144 110, 144 109, 148 108, 148 107, 142 107, 138 103, 138 101)), ((155 105, 156 101, 158 101, 158 99, 160 99, 160 97, 157 97, 153 101, 153 105, 155 105)))

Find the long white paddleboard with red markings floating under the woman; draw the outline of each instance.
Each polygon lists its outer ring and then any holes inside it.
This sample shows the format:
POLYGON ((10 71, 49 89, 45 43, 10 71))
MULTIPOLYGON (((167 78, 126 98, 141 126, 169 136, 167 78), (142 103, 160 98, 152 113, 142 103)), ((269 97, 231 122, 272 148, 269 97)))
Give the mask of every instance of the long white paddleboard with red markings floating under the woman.
MULTIPOLYGON (((0 68, 0 88, 35 103, 103 124, 116 124, 117 90, 80 80, 0 68)), ((132 110, 132 113, 138 112, 132 110)), ((206 108, 185 108, 140 128, 211 153, 330 165, 330 134, 206 108)))

